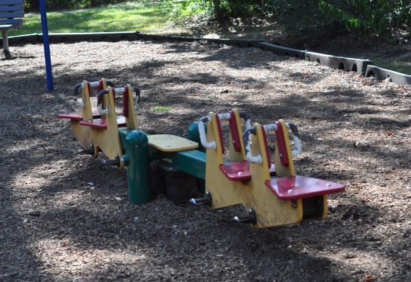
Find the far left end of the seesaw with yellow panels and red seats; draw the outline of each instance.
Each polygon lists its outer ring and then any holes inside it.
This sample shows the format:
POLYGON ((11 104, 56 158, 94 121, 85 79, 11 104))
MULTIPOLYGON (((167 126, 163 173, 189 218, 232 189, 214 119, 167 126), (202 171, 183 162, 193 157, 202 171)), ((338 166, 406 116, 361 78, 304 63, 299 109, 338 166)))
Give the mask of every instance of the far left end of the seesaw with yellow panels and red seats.
POLYGON ((110 81, 101 79, 95 82, 83 81, 73 88, 75 101, 82 107, 80 112, 68 114, 59 114, 59 118, 69 118, 71 129, 84 148, 78 153, 90 154, 94 157, 103 151, 110 161, 105 164, 116 164, 123 167, 121 157, 123 149, 121 148, 119 138, 119 127, 127 129, 137 129, 137 120, 135 105, 133 102, 132 92, 136 92, 139 97, 140 90, 127 84, 122 88, 114 88, 110 81), (77 90, 82 88, 82 99, 77 99, 77 90), (97 111, 92 111, 90 103, 90 90, 97 88, 97 111), (116 115, 114 105, 115 94, 123 94, 123 116, 116 115))

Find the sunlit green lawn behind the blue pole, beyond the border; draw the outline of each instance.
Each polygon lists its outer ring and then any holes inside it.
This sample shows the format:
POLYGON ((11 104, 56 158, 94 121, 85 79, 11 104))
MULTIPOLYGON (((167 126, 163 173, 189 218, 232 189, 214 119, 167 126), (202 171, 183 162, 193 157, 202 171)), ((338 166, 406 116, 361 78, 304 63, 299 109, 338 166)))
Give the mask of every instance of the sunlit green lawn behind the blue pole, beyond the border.
MULTIPOLYGON (((66 12, 47 12, 49 33, 60 32, 153 32, 163 29, 167 16, 158 4, 115 6, 66 12)), ((40 14, 26 14, 23 26, 9 36, 40 34, 40 14)))

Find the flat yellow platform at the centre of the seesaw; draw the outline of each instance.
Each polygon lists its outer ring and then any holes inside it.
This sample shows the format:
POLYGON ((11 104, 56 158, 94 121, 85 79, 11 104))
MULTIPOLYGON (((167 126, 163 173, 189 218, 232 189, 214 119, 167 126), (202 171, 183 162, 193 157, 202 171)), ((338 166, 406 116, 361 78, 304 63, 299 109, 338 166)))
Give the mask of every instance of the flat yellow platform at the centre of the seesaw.
POLYGON ((197 142, 170 134, 149 135, 149 145, 163 152, 179 152, 197 149, 197 142))

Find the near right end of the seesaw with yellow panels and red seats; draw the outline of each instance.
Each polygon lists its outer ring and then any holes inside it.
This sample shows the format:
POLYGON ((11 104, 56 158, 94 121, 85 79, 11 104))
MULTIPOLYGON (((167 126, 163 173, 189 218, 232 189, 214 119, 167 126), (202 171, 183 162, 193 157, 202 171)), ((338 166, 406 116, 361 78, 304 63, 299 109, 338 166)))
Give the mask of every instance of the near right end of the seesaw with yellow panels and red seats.
POLYGON ((284 120, 273 125, 255 123, 243 133, 242 157, 225 164, 219 128, 222 117, 210 113, 199 120, 200 131, 204 122, 207 122, 208 129, 207 135, 200 133, 201 144, 207 148, 206 195, 192 198, 192 203, 206 204, 210 209, 243 205, 247 215, 236 216, 234 221, 248 222, 253 227, 288 225, 327 215, 327 195, 343 192, 345 186, 295 175, 292 157, 301 151, 295 125, 284 120), (291 150, 289 129, 295 150, 291 150), (274 164, 271 164, 267 133, 275 133, 274 164))

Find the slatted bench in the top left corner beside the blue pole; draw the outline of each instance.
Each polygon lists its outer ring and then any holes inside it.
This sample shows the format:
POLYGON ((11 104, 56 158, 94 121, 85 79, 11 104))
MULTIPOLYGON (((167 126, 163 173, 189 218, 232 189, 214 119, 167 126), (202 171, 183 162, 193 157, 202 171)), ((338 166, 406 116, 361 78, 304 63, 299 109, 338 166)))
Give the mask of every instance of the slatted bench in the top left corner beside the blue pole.
POLYGON ((23 24, 24 5, 23 0, 1 0, 0 1, 0 30, 3 38, 3 50, 9 53, 7 31, 18 29, 23 24))

